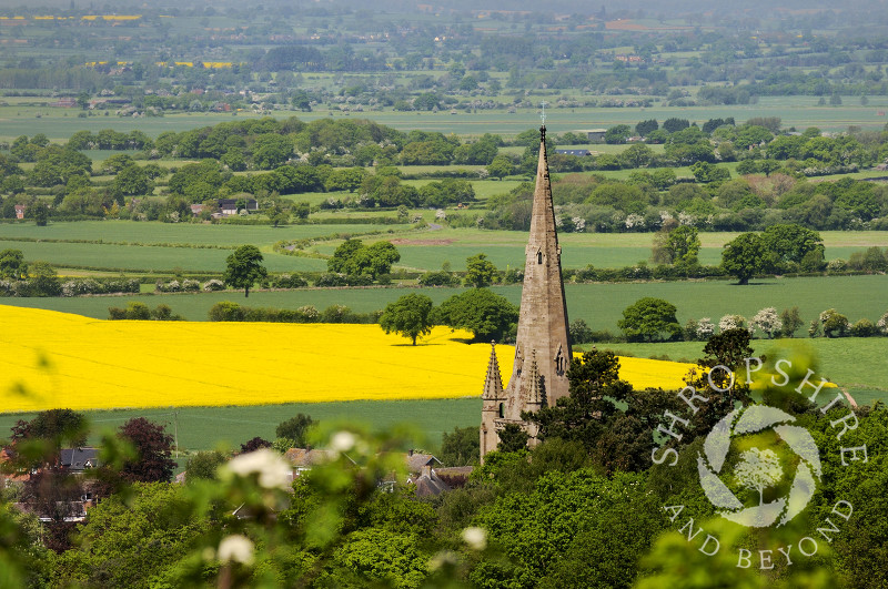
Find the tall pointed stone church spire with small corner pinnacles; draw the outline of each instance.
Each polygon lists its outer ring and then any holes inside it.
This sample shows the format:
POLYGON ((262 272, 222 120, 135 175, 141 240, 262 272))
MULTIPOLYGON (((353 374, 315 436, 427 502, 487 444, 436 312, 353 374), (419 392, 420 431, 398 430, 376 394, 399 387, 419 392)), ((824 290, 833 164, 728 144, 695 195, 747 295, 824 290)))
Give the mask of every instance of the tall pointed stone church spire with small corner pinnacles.
POLYGON ((567 304, 562 281, 562 248, 555 230, 555 209, 546 160, 546 128, 539 128, 539 161, 536 169, 531 235, 524 263, 515 363, 503 389, 495 348, 491 351, 481 414, 481 456, 496 449, 498 430, 517 424, 533 438, 533 424, 522 412, 554 406, 568 395, 567 368, 572 351, 567 331, 567 304))

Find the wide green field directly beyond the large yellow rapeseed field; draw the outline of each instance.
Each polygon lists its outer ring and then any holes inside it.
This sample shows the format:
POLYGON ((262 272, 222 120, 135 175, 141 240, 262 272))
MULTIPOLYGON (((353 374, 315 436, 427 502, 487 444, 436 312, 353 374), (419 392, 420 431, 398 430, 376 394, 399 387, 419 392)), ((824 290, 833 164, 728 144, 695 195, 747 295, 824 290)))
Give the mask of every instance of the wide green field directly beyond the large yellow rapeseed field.
MULTIPOLYGON (((521 285, 494 288, 514 304, 521 299, 521 285)), ((435 304, 462 292, 462 288, 423 288, 423 294, 435 304)), ((87 296, 72 298, 0 298, 6 305, 50 308, 95 318, 107 318, 108 307, 123 307, 130 301, 141 301, 154 307, 168 304, 174 313, 191 321, 205 321, 210 307, 220 301, 235 301, 248 306, 272 306, 296 308, 314 305, 323 309, 341 304, 354 311, 369 313, 383 308, 397 297, 415 293, 412 287, 370 288, 299 288, 294 291, 251 291, 244 299, 241 292, 201 294, 142 294, 127 296, 87 296)), ((567 309, 571 319, 585 321, 593 329, 618 332, 617 321, 623 309, 645 296, 665 298, 678 307, 677 318, 684 324, 688 319, 710 317, 718 321, 723 315, 755 315, 764 307, 778 311, 799 307, 801 318, 809 323, 820 312, 836 308, 851 322, 866 317, 874 323, 888 312, 888 276, 829 276, 801 278, 769 278, 754 281, 748 286, 738 286, 729 281, 685 282, 632 282, 613 284, 567 284, 567 309)), ((801 331, 799 332, 801 333, 801 331)))

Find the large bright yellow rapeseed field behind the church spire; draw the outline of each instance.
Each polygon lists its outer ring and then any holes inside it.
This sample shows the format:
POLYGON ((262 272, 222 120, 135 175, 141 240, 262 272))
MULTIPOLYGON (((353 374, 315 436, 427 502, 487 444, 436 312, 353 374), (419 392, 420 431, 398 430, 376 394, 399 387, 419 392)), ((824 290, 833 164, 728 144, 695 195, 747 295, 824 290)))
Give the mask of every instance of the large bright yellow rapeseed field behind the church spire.
MULTIPOLYGON (((377 325, 111 322, 0 305, 0 412, 478 396, 490 344, 436 327, 413 347, 377 325)), ((504 382, 514 348, 497 346, 504 382)), ((636 388, 687 364, 622 358, 636 388)))

